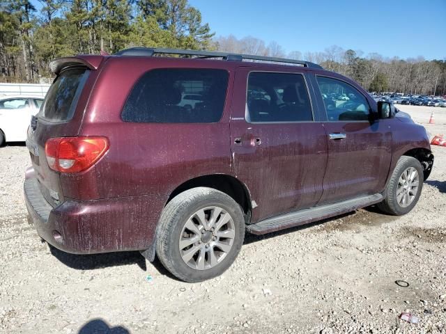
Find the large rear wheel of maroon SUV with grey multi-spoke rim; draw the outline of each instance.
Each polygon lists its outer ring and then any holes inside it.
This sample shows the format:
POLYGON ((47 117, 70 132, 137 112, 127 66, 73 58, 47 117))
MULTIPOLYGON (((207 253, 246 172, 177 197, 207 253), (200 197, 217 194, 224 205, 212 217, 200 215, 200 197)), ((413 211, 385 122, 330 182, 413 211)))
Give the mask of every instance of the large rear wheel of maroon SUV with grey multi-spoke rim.
POLYGON ((164 207, 156 252, 174 276, 201 282, 231 266, 244 237, 240 205, 222 191, 198 187, 180 193, 164 207))

